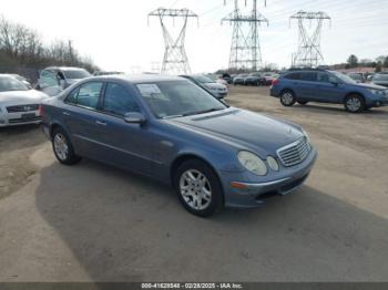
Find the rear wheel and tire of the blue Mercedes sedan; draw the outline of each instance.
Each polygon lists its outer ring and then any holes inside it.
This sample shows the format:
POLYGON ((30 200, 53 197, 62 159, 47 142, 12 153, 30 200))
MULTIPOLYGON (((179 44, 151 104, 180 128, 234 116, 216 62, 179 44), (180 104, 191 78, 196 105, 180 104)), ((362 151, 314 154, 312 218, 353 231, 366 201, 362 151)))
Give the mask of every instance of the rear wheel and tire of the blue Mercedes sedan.
POLYGON ((60 127, 52 133, 52 149, 61 164, 73 165, 81 160, 81 157, 75 155, 67 133, 60 127))

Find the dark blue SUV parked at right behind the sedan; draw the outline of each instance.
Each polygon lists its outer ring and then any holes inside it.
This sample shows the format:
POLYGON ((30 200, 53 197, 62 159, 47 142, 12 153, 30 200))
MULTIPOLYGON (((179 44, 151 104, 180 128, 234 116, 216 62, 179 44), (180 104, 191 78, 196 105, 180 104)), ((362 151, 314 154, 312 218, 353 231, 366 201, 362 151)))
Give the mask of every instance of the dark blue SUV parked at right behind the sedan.
POLYGON ((356 83, 349 76, 328 70, 287 71, 275 80, 270 95, 285 106, 296 102, 344 104, 351 113, 388 105, 388 90, 384 86, 356 83))

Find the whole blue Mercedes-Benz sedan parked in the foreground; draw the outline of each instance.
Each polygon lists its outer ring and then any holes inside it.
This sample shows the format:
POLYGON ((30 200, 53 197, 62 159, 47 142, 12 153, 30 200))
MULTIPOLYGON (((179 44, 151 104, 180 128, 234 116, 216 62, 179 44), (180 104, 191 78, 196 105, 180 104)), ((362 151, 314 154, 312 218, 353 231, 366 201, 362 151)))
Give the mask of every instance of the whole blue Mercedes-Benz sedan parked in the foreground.
POLYGON ((317 156, 300 126, 231 107, 177 76, 89 77, 41 114, 60 163, 82 156, 171 183, 203 217, 290 193, 317 156))

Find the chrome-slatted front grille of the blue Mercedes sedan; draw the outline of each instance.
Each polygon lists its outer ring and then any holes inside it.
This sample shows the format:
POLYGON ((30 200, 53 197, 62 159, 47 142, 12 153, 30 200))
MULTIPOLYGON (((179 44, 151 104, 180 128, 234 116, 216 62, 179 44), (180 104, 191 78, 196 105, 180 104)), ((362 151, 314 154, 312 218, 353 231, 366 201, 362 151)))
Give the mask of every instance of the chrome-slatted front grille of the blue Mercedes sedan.
POLYGON ((298 139, 277 151, 277 156, 286 167, 302 163, 310 152, 312 147, 306 137, 298 139))

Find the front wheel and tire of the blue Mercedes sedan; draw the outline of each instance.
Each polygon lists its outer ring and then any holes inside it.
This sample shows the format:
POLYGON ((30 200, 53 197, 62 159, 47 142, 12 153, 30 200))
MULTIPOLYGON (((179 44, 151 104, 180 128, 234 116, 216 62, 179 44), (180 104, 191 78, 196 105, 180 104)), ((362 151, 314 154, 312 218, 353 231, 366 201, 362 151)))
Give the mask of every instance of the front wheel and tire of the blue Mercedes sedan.
POLYGON ((180 165, 174 174, 174 187, 183 207, 193 215, 210 217, 223 208, 224 194, 218 176, 200 159, 180 165))

